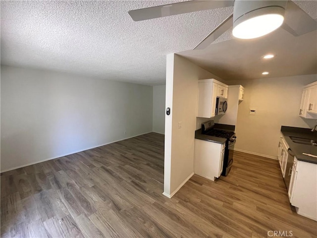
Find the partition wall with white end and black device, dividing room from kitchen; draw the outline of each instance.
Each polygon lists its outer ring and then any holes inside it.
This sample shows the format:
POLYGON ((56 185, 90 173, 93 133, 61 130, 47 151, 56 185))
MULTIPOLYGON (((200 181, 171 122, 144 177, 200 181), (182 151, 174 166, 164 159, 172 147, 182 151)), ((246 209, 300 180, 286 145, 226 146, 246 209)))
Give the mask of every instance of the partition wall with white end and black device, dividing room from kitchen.
POLYGON ((194 173, 198 80, 212 74, 176 54, 167 55, 164 195, 172 196, 194 173), (179 128, 181 123, 181 128, 179 128))

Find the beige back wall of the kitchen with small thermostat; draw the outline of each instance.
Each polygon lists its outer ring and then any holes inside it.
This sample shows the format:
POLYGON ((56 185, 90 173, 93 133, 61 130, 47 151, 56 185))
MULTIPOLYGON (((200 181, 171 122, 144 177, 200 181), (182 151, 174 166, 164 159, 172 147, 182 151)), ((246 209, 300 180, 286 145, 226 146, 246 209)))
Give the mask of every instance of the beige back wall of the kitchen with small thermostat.
POLYGON ((227 81, 245 87, 245 100, 239 104, 235 149, 277 157, 281 125, 312 128, 315 119, 298 116, 303 86, 317 80, 317 75, 227 81), (250 116, 249 108, 257 108, 250 116))

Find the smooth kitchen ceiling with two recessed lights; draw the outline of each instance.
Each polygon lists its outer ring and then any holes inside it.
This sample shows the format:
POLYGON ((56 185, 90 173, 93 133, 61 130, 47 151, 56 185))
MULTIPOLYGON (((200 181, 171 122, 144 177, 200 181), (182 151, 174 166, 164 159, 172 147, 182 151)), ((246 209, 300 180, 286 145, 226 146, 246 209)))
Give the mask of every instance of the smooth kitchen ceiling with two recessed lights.
POLYGON ((252 40, 232 39, 179 55, 224 80, 317 73, 316 31, 294 37, 283 29, 252 40), (274 58, 263 59, 272 54, 274 58), (269 72, 262 75, 262 72, 269 72))

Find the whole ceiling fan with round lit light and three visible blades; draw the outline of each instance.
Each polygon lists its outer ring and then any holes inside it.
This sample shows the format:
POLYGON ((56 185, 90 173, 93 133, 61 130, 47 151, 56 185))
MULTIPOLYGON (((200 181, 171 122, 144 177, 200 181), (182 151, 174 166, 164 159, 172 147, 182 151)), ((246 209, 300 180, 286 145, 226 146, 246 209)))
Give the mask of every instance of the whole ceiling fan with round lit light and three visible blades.
POLYGON ((205 49, 233 26, 240 39, 264 36, 278 27, 300 36, 317 29, 317 22, 291 0, 191 0, 128 11, 134 21, 233 6, 233 13, 194 50, 205 49))

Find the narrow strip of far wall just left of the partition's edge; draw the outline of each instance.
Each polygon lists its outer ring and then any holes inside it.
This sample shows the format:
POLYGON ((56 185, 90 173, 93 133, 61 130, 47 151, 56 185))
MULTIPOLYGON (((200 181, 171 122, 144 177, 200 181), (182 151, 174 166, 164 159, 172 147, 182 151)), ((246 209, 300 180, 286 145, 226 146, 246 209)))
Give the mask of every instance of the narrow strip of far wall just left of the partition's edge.
POLYGON ((165 133, 165 85, 153 86, 153 131, 165 133))

